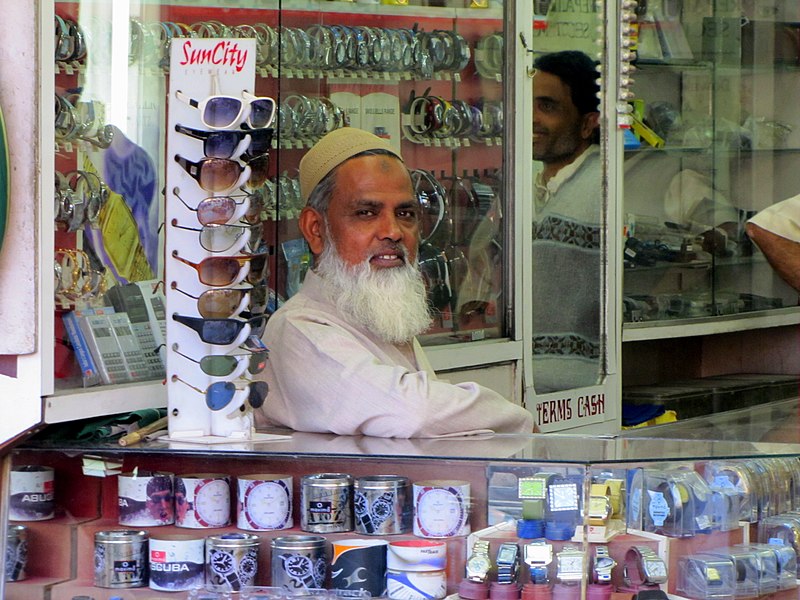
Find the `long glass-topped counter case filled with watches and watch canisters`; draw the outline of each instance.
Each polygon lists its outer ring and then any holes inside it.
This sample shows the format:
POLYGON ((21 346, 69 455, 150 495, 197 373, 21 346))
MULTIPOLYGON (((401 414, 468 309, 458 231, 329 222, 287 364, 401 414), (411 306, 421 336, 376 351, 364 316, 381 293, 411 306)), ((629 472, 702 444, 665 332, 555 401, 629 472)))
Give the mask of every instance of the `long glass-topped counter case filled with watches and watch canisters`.
POLYGON ((9 599, 797 593, 797 443, 42 438, 6 467, 9 599))

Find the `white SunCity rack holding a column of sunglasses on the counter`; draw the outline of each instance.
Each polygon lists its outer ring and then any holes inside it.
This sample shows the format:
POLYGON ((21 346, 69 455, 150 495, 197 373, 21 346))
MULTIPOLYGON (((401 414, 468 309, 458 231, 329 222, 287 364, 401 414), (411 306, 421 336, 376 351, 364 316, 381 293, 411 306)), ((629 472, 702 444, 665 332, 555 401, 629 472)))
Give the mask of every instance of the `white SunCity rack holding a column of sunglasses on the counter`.
POLYGON ((257 297, 268 252, 248 188, 267 179, 276 106, 251 92, 254 41, 222 42, 228 65, 211 62, 219 43, 192 40, 197 58, 188 62, 189 48, 173 44, 167 128, 169 432, 203 443, 252 439, 253 408, 267 393, 253 373, 266 360, 265 300, 257 297))

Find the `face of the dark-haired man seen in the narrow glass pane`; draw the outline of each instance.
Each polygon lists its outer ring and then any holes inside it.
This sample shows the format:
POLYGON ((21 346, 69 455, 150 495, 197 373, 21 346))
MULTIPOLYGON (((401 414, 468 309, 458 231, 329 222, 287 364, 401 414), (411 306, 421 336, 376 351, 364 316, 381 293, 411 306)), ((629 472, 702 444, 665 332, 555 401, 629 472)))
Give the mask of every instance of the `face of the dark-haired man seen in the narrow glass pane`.
POLYGON ((533 158, 553 172, 571 163, 590 144, 597 113, 581 115, 569 86, 544 71, 533 77, 533 158))

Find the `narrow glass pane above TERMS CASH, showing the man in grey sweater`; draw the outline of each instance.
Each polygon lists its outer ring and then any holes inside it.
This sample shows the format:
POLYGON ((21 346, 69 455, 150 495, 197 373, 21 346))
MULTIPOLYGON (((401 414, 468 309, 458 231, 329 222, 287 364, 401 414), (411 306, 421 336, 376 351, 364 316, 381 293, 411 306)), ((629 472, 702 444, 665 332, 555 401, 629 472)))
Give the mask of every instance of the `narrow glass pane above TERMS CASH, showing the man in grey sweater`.
POLYGON ((533 386, 548 393, 604 373, 605 194, 599 15, 536 3, 533 68, 533 386), (566 35, 567 31, 582 32, 566 35))

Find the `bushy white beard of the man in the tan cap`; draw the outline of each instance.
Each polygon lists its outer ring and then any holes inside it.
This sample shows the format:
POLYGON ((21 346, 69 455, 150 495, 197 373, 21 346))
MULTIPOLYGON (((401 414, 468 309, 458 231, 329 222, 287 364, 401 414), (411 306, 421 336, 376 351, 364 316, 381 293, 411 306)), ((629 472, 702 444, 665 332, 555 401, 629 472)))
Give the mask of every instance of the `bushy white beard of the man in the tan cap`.
MULTIPOLYGON (((404 248, 399 251, 405 256, 404 248)), ((390 344, 408 342, 430 327, 425 282, 416 263, 373 269, 367 259, 351 266, 326 242, 316 271, 342 314, 390 344)))

